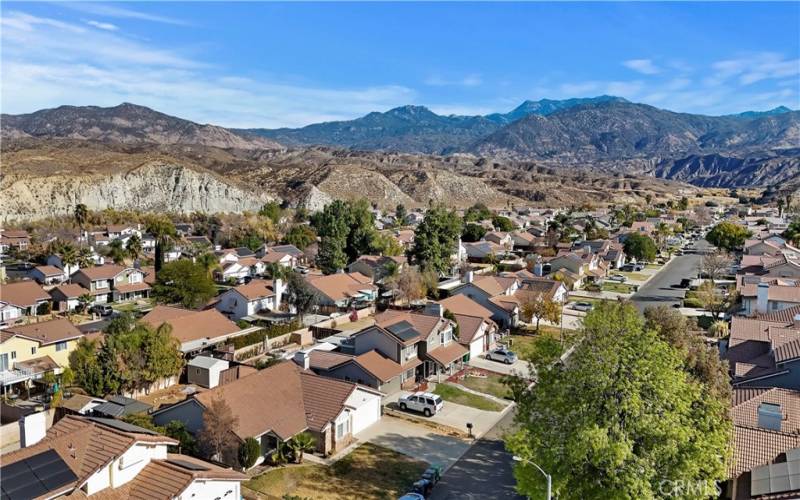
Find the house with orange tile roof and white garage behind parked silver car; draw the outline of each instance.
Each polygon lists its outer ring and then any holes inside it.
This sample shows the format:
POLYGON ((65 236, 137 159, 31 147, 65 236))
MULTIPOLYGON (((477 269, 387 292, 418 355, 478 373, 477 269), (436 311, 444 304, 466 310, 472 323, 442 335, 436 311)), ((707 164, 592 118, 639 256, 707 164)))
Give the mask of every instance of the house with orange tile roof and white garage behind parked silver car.
POLYGON ((458 325, 458 343, 469 350, 470 359, 497 345, 500 333, 492 321, 492 311, 463 294, 440 300, 439 304, 453 313, 458 325))

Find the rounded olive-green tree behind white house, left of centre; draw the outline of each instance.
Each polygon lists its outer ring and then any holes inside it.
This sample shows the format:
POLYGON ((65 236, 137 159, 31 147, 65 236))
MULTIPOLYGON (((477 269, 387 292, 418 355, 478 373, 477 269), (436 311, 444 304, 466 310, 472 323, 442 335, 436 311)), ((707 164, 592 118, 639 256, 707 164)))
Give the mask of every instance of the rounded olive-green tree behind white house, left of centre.
POLYGON ((153 297, 161 304, 179 303, 197 308, 217 294, 206 269, 190 260, 167 262, 153 285, 153 297))

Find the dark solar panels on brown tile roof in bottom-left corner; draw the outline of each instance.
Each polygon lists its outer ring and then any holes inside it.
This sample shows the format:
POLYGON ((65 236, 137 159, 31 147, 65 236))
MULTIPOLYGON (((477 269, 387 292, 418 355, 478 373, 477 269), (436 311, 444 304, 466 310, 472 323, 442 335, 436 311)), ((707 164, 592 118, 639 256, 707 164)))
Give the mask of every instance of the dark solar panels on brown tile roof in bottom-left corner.
POLYGON ((36 498, 78 479, 55 450, 47 450, 0 467, 2 498, 36 498))

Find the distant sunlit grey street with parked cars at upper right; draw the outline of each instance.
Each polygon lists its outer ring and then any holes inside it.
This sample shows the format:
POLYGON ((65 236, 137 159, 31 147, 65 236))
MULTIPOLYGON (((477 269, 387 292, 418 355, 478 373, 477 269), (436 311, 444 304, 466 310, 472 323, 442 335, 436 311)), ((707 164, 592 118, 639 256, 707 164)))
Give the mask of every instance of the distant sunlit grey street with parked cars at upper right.
POLYGON ((687 250, 693 253, 686 253, 672 259, 672 262, 664 266, 658 274, 633 294, 631 301, 640 311, 644 311, 648 307, 659 305, 671 307, 680 303, 686 290, 678 288, 678 285, 684 278, 697 277, 698 266, 703 258, 700 252, 709 248, 711 245, 705 240, 700 240, 693 247, 689 247, 687 250), (694 253, 695 251, 697 253, 694 253))

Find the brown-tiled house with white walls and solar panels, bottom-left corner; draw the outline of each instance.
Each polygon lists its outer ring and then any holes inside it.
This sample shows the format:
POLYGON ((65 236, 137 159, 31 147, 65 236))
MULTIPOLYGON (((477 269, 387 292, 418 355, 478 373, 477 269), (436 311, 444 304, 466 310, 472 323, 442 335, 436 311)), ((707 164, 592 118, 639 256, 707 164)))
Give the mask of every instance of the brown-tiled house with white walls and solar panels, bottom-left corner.
POLYGON ((168 453, 178 441, 113 419, 67 415, 0 457, 5 498, 241 498, 247 476, 168 453))

